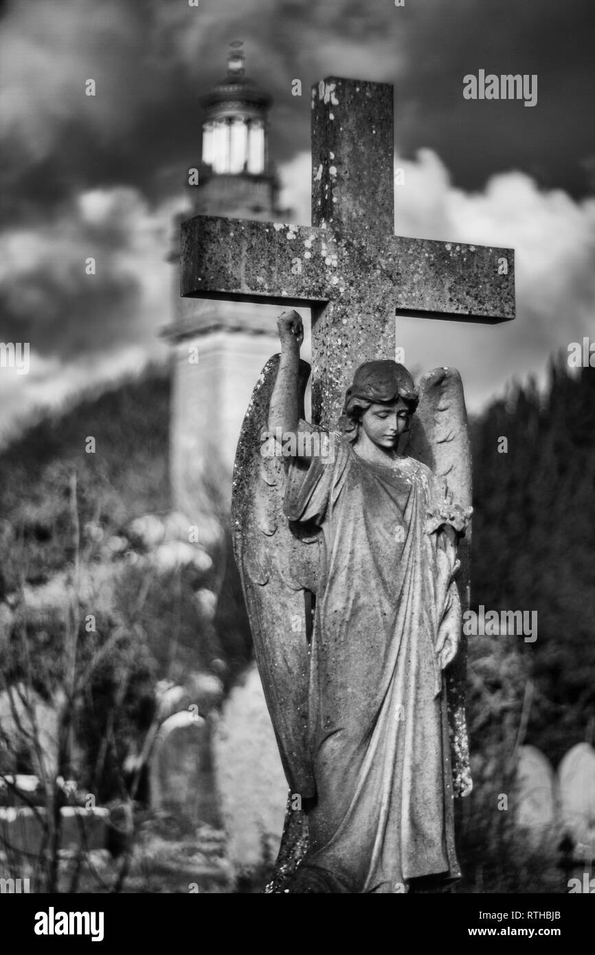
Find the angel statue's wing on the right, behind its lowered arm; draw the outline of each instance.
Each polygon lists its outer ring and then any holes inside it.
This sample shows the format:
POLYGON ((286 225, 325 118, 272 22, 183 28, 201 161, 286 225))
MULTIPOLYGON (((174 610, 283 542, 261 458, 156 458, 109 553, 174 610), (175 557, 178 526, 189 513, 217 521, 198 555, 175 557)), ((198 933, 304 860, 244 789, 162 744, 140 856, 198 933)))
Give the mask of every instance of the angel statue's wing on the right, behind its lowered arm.
MULTIPOLYGON (((419 405, 412 419, 409 454, 444 477, 454 499, 471 507, 471 448, 467 411, 460 374, 454 368, 437 368, 424 374, 418 384, 419 405)), ((471 527, 458 544, 460 571, 457 577, 461 611, 469 607, 471 527)), ((461 634, 455 660, 446 670, 449 728, 453 754, 453 785, 456 796, 471 790, 469 742, 465 722, 467 640, 461 634)))

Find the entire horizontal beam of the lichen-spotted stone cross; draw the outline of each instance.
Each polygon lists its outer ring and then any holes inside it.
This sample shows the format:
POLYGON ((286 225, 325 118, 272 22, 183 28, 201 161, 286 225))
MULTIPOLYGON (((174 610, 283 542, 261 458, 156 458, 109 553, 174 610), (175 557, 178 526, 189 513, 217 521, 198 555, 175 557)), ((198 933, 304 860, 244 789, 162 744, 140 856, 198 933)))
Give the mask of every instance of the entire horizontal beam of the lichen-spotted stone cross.
POLYGON ((514 251, 195 216, 181 225, 181 294, 505 322, 515 315, 514 251))

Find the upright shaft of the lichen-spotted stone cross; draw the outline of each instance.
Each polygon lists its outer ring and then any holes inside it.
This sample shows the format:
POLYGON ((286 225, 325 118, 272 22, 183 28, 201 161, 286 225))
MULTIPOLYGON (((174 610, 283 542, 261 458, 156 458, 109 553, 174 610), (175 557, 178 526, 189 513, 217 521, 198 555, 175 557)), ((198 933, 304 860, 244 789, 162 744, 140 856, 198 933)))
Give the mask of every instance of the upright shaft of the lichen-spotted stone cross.
MULTIPOLYGON (((343 240, 350 260, 339 257, 331 279, 341 297, 312 308, 312 415, 329 426, 340 413, 346 374, 367 358, 394 354, 393 311, 384 303, 375 308, 378 276, 369 273, 393 237, 393 87, 329 76, 312 87, 311 109, 312 225, 343 240)), ((332 262, 331 247, 329 253, 332 262)))

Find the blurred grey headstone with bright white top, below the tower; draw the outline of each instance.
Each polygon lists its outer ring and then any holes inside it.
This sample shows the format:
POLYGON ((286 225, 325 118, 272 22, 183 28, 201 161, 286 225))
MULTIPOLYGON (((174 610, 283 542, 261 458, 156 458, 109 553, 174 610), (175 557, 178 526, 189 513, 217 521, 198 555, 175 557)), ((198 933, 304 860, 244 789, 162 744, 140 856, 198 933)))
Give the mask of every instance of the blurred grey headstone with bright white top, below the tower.
POLYGON ((149 759, 151 808, 188 826, 217 826, 209 721, 189 707, 161 724, 149 759))

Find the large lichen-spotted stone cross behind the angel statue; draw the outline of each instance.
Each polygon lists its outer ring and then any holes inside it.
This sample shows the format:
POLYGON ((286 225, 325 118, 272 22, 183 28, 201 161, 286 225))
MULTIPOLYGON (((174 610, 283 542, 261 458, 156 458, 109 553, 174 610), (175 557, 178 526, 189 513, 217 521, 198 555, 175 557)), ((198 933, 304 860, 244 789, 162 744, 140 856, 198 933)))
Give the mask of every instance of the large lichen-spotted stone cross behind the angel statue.
POLYGON ((312 88, 312 225, 195 216, 181 225, 181 295, 312 309, 312 418, 332 426, 352 373, 392 358, 395 315, 515 316, 512 249, 393 234, 393 87, 312 88))

